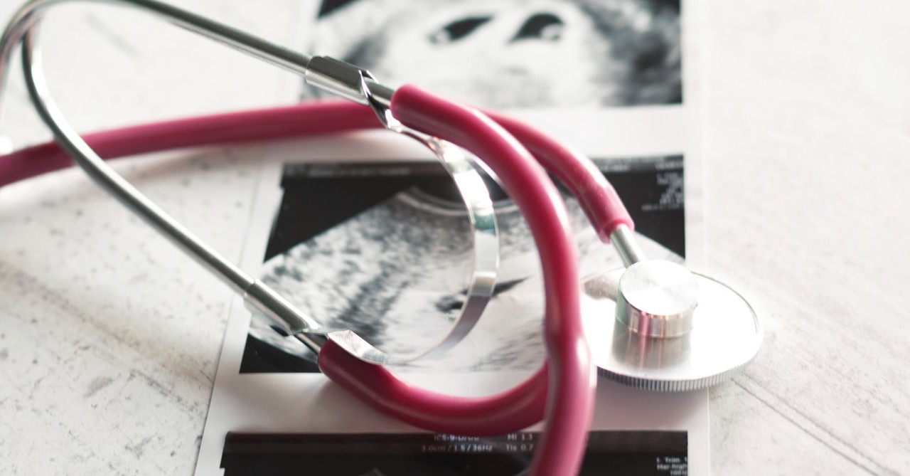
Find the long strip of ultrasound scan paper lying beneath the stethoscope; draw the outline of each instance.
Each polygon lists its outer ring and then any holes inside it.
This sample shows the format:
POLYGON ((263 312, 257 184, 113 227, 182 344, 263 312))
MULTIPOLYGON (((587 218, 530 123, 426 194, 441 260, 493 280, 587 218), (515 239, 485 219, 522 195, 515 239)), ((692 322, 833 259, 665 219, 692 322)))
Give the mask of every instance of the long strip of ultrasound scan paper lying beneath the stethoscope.
MULTIPOLYGON (((505 110, 571 144, 623 197, 646 256, 701 263, 692 2, 301 5, 302 50, 365 66, 389 86, 505 110)), ((297 86, 307 100, 324 98, 297 86)), ((240 267, 314 319, 354 329, 380 349, 411 352, 440 339, 464 299, 471 242, 460 198, 431 154, 382 131, 263 147, 240 267)), ((486 180, 501 230, 497 287, 468 338, 394 369, 424 389, 489 395, 544 359, 537 250, 518 209, 486 180)), ((577 201, 561 193, 582 276, 621 267, 577 201)), ((599 379, 581 474, 709 474, 707 396, 599 379)), ((481 439, 383 416, 236 299, 196 474, 520 475, 540 430, 481 439)))

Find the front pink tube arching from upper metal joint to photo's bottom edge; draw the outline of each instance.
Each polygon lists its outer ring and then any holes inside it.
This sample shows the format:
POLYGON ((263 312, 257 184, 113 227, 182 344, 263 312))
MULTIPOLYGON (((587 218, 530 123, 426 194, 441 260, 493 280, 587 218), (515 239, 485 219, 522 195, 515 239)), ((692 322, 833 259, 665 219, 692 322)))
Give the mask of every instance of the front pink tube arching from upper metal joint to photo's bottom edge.
POLYGON ((392 115, 482 157, 527 221, 543 268, 550 371, 544 431, 530 473, 576 474, 588 440, 597 373, 581 324, 578 259, 559 191, 521 143, 476 110, 404 86, 392 96, 392 115))

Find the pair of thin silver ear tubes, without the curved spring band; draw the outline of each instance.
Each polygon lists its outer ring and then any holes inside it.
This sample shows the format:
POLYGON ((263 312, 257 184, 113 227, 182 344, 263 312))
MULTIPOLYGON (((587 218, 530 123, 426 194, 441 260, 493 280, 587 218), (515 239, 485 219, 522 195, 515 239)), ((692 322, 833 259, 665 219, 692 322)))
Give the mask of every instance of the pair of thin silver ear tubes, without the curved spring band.
MULTIPOLYGON (((23 45, 23 66, 26 73, 26 86, 33 98, 38 114, 48 127, 51 127, 58 143, 67 155, 73 157, 83 167, 89 177, 98 185, 117 198, 118 201, 133 210, 147 224, 156 228, 162 235, 181 248, 199 264, 212 271, 230 288, 244 294, 252 306, 262 311, 268 318, 287 327, 291 331, 319 329, 319 324, 296 309, 287 306, 278 299, 271 289, 263 289, 261 283, 250 278, 243 270, 227 259, 221 257, 214 248, 194 236, 177 220, 171 218, 161 208, 142 195, 123 177, 112 173, 104 161, 97 157, 91 147, 84 141, 72 140, 78 137, 76 131, 66 123, 55 103, 46 91, 43 70, 38 60, 36 46, 37 24, 52 6, 62 5, 74 0, 33 0, 23 5, 0 36, 0 126, 2 126, 3 102, 6 81, 9 77, 13 48, 23 45), (66 138, 66 140, 61 140, 66 138), (275 303, 284 304, 276 306, 275 303)), ((196 15, 177 7, 166 5, 155 0, 88 0, 98 3, 111 3, 134 6, 141 10, 164 18, 170 23, 211 38, 218 43, 230 46, 248 55, 258 57, 276 66, 283 67, 304 76, 311 59, 283 46, 272 44, 255 35, 249 35, 231 26, 223 25, 206 17, 196 15)))

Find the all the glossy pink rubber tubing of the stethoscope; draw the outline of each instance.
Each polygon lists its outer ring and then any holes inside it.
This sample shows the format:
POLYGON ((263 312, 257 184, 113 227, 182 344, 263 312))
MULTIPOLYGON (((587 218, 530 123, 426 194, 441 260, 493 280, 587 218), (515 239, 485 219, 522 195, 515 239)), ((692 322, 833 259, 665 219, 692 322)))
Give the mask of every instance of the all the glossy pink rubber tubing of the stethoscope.
MULTIPOLYGON (((631 218, 590 160, 531 127, 499 115, 492 115, 494 122, 474 109, 411 86, 399 88, 393 96, 392 113, 406 126, 442 137, 482 157, 528 220, 545 271, 548 361, 519 386, 474 399, 413 388, 389 370, 356 359, 332 342, 319 353, 320 369, 374 408, 428 430, 500 434, 526 428, 546 413, 531 474, 573 474, 580 465, 590 425, 596 374, 581 329, 571 228, 561 197, 543 167, 579 198, 604 240, 621 224, 631 227, 631 218)), ((100 156, 113 158, 366 127, 379 127, 369 108, 333 102, 183 119, 84 138, 100 156)), ((25 148, 0 157, 0 186, 67 165, 66 155, 56 145, 25 148)))

